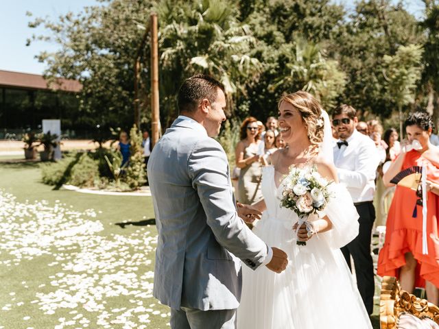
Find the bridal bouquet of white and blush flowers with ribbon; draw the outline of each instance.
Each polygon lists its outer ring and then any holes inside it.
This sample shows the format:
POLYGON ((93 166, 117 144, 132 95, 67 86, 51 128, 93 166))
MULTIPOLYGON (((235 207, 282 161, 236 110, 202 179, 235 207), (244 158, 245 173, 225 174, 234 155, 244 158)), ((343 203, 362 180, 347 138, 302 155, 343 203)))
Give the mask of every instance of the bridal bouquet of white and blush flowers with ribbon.
MULTIPOLYGON (((313 233, 313 224, 309 221, 311 214, 318 216, 318 211, 327 206, 331 193, 328 182, 318 173, 316 166, 292 168, 283 179, 281 207, 289 208, 299 217, 296 234, 305 224, 308 234, 313 233)), ((307 245, 305 241, 297 241, 297 245, 307 245)))

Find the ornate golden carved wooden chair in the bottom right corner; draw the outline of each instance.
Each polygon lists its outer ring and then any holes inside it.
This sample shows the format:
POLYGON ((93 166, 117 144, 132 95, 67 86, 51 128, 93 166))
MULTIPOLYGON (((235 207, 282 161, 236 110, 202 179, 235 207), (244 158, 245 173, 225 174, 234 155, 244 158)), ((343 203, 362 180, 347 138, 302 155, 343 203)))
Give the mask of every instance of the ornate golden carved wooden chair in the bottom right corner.
POLYGON ((393 276, 383 277, 379 308, 381 329, 439 328, 438 306, 401 290, 393 276))

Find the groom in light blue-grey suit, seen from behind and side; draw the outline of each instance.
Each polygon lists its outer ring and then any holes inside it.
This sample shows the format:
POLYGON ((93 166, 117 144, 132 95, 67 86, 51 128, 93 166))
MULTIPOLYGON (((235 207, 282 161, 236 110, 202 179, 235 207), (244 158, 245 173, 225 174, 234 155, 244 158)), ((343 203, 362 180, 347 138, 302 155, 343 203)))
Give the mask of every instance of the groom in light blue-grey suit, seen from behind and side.
POLYGON ((241 262, 280 273, 287 255, 255 236, 239 215, 230 169, 213 138, 226 120, 224 86, 194 75, 180 87, 180 116, 154 147, 147 166, 158 245, 154 296, 171 307, 171 328, 235 328, 241 262))

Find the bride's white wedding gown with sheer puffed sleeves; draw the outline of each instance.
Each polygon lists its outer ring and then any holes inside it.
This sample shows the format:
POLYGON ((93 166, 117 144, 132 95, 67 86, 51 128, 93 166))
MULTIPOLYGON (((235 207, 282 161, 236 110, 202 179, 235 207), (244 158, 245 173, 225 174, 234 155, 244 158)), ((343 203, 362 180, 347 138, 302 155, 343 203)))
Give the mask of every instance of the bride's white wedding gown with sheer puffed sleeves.
POLYGON ((339 249, 357 236, 357 211, 344 186, 330 186, 335 197, 324 212, 332 230, 298 246, 292 230, 298 217, 279 206, 283 186, 275 184, 274 167, 263 168, 261 188, 267 210, 253 232, 267 245, 283 249, 289 264, 280 274, 265 266, 256 271, 243 266, 238 329, 372 328, 339 249))

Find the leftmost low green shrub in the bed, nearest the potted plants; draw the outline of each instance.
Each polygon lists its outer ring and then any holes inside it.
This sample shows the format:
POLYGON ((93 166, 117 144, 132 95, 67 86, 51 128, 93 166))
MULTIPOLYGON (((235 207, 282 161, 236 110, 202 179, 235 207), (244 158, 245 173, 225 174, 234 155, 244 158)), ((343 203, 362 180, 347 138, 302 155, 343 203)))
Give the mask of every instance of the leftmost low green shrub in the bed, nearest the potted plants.
POLYGON ((41 176, 44 184, 58 187, 69 181, 71 169, 78 162, 82 154, 72 152, 56 162, 40 164, 41 176))

